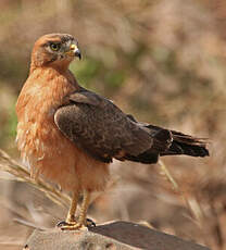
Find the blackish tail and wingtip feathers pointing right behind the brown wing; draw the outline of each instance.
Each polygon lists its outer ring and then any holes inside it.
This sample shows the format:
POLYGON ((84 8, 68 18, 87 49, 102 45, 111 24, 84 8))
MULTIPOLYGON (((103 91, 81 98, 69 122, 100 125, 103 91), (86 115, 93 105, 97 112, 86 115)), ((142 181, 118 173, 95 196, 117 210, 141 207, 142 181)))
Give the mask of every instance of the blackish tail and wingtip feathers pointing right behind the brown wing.
POLYGON ((126 160, 141 163, 156 163, 159 157, 185 154, 204 158, 209 155, 206 139, 196 138, 179 132, 164 129, 153 125, 143 125, 153 137, 152 147, 146 152, 133 157, 126 155, 126 160))

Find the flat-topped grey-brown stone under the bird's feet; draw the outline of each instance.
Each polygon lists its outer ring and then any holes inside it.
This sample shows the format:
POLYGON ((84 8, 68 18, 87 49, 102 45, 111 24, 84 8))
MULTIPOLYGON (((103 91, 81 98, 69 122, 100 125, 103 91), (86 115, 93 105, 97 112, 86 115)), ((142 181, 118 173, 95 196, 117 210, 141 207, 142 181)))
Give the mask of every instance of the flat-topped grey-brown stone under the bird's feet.
POLYGON ((210 250, 178 237, 128 223, 113 222, 89 230, 36 229, 25 250, 210 250))

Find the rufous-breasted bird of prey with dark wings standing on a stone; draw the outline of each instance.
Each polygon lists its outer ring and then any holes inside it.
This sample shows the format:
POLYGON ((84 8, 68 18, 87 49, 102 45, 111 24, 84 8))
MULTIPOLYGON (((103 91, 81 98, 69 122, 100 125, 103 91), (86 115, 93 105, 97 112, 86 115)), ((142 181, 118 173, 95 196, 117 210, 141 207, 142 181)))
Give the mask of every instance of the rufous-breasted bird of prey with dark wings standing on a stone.
POLYGON ((204 140, 139 123, 79 86, 68 70, 76 57, 81 55, 73 36, 40 37, 16 103, 17 147, 30 176, 42 176, 73 193, 62 229, 87 225, 90 193, 104 188, 113 159, 152 164, 162 155, 209 155, 204 140))

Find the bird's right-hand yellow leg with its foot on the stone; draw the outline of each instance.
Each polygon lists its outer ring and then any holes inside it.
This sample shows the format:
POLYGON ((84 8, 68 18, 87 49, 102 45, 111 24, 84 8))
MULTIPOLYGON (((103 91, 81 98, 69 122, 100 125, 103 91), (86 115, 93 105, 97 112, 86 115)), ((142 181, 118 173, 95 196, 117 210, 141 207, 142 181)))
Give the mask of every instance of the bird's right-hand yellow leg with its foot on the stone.
MULTIPOLYGON (((89 207, 89 201, 90 201, 90 192, 85 190, 84 191, 83 203, 80 205, 80 214, 78 216, 78 222, 77 223, 68 222, 68 225, 65 225, 65 226, 61 227, 61 229, 63 229, 63 230, 75 230, 75 229, 79 229, 81 227, 85 227, 87 225, 86 215, 87 215, 87 210, 88 210, 88 207, 89 207)), ((72 207, 71 207, 70 211, 71 210, 72 210, 72 207)), ((72 212, 73 212, 73 210, 72 210, 72 212)), ((71 216, 70 212, 68 212, 68 216, 71 216)))

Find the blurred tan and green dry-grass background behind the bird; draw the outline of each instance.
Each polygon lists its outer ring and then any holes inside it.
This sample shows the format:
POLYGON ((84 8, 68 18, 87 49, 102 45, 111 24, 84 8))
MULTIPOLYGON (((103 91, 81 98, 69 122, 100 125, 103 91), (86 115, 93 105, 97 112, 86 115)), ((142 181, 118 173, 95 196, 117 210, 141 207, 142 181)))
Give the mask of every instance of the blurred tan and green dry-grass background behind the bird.
MULTIPOLYGON (((114 161, 90 217, 147 222, 226 249, 226 2, 1 0, 0 10, 0 148, 20 162, 14 109, 35 40, 72 34, 83 60, 71 70, 84 87, 140 121, 210 138, 206 159, 165 157, 156 165, 114 161)), ((0 160, 1 170, 7 162, 0 160)), ((65 201, 56 202, 27 182, 0 172, 0 249, 21 249, 33 227, 53 227, 66 215, 68 193, 53 187, 65 201)))

